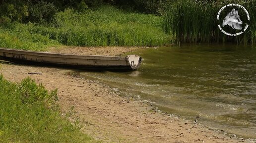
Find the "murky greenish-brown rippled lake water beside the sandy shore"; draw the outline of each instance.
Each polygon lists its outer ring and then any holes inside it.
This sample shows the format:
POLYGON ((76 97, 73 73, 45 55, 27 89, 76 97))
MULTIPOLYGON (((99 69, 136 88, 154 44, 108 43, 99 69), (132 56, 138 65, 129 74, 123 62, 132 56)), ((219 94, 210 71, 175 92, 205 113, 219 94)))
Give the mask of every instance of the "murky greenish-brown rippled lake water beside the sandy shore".
POLYGON ((133 72, 84 72, 160 110, 256 139, 256 47, 184 45, 133 52, 133 72))

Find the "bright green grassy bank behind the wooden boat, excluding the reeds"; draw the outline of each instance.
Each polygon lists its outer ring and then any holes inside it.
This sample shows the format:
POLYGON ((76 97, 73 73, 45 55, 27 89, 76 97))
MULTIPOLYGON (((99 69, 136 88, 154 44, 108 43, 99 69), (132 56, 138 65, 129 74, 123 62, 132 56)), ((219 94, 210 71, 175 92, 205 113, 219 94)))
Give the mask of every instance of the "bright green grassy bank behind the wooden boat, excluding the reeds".
POLYGON ((0 27, 0 46, 44 50, 55 45, 75 46, 161 46, 171 36, 161 28, 162 17, 130 13, 114 6, 77 12, 58 12, 48 25, 5 24, 0 27), (7 25, 7 26, 6 26, 7 25))

